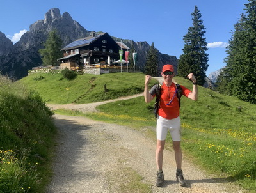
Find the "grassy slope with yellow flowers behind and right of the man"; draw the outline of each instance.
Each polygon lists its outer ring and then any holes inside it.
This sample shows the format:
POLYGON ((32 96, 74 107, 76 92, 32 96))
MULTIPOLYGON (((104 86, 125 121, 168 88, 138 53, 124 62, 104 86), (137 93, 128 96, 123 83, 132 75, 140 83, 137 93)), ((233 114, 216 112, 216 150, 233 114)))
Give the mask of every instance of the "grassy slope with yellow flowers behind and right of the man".
MULTIPOLYGON (((192 89, 188 80, 175 77, 175 81, 192 89)), ((253 192, 256 189, 256 105, 200 86, 198 89, 197 102, 182 97, 182 148, 196 164, 222 176, 220 180, 236 181, 253 192)), ((145 104, 143 97, 139 97, 100 105, 100 113, 88 116, 137 128, 155 126, 153 104, 145 104)), ((169 135, 168 141, 171 140, 169 135)))

